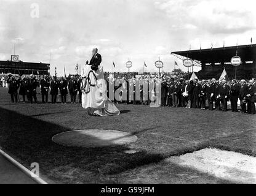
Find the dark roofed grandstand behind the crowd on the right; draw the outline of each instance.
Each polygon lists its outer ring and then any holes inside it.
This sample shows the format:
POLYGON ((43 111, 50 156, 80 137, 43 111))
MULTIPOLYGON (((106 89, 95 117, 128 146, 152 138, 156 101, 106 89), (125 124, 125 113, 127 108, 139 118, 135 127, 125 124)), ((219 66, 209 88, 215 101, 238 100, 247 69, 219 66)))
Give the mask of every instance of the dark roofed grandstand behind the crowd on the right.
POLYGON ((180 59, 191 59, 194 66, 201 66, 202 69, 196 74, 201 79, 218 78, 224 68, 230 78, 235 77, 235 69, 238 79, 256 77, 256 44, 174 51, 171 54, 180 59), (233 56, 241 58, 242 63, 237 68, 231 65, 233 56))

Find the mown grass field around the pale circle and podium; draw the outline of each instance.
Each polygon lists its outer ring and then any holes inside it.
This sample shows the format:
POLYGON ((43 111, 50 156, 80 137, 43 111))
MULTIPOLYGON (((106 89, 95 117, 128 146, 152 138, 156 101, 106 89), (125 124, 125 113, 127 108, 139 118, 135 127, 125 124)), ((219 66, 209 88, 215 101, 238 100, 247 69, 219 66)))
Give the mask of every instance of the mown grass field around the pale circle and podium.
POLYGON ((87 115, 79 104, 11 104, 0 88, 0 146, 55 183, 231 183, 167 157, 202 148, 256 156, 256 116, 199 109, 122 105, 120 116, 87 115), (52 137, 75 129, 113 129, 137 135, 135 143, 108 148, 60 146, 52 137), (124 153, 135 149, 139 153, 124 153), (196 177, 194 177, 196 176, 196 177))

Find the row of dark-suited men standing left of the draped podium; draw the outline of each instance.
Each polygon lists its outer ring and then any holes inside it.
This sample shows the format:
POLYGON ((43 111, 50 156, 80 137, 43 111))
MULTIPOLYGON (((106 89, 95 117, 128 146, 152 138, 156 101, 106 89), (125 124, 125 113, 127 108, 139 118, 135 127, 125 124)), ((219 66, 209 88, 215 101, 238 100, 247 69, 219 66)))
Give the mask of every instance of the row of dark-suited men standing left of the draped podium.
POLYGON ((37 91, 36 89, 41 89, 42 103, 45 104, 48 102, 48 94, 50 92, 52 104, 57 102, 58 90, 60 91, 60 96, 62 100, 62 104, 66 104, 66 96, 68 92, 70 93, 71 103, 76 103, 76 96, 79 95, 79 102, 81 103, 82 91, 80 88, 81 78, 74 78, 71 76, 70 80, 66 80, 65 78, 60 78, 57 80, 56 77, 50 79, 46 75, 42 77, 41 80, 37 80, 36 77, 30 75, 30 77, 26 78, 15 78, 11 76, 7 79, 7 83, 9 83, 9 91, 10 99, 12 102, 18 102, 20 94, 22 96, 22 102, 26 101, 33 104, 34 102, 38 102, 37 91), (19 90, 19 91, 18 91, 19 90))

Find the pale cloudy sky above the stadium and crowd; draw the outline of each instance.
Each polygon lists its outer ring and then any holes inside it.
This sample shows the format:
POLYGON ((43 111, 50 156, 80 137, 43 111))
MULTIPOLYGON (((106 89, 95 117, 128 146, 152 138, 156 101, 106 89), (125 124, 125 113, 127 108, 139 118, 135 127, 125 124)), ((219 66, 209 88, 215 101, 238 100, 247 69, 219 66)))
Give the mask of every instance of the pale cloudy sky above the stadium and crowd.
MULTIPOLYGON (((187 70, 171 51, 256 43, 254 0, 0 0, 0 60, 14 54, 25 62, 50 61, 50 74, 74 74, 102 55, 105 71, 187 70)), ((200 70, 197 67, 195 70, 200 70)))

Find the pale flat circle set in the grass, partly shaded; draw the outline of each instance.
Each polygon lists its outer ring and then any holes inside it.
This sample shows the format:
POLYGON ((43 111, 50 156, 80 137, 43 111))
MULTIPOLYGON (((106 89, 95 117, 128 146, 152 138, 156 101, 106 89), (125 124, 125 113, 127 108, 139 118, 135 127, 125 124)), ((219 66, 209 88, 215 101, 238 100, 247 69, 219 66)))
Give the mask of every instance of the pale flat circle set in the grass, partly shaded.
POLYGON ((71 130, 52 137, 59 145, 84 148, 125 145, 136 140, 135 135, 127 132, 102 129, 71 130))

